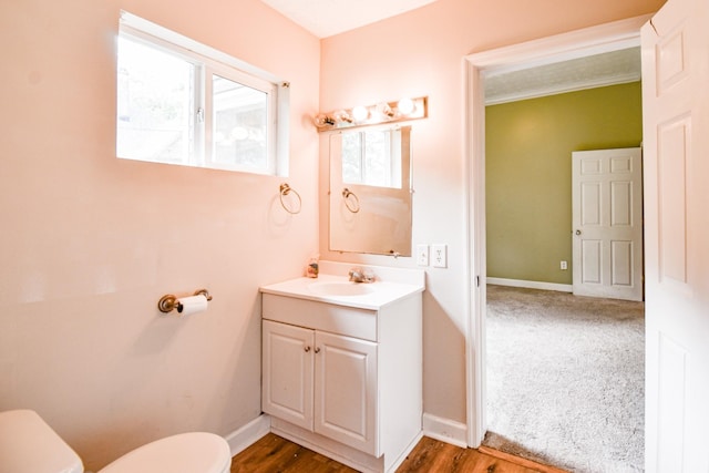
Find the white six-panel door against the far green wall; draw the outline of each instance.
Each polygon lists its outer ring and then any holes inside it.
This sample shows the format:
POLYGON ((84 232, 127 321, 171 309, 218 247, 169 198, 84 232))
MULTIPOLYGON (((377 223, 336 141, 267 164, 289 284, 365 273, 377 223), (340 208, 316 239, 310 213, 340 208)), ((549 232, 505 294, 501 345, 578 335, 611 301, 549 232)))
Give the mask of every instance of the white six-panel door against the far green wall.
POLYGON ((574 294, 643 300, 640 148, 574 152, 572 160, 574 294))

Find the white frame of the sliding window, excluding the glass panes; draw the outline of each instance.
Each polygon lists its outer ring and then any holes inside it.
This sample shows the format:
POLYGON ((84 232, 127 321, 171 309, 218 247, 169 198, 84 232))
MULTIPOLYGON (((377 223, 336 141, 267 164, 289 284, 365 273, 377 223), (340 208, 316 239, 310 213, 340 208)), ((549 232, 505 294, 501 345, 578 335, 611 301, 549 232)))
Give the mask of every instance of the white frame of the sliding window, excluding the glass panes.
MULTIPOLYGON (((288 175, 289 150, 289 89, 290 84, 276 75, 263 71, 245 61, 202 44, 164 27, 135 14, 121 11, 119 35, 163 50, 195 66, 193 97, 194 150, 188 162, 182 165, 240 171, 256 174, 288 175), (251 166, 217 163, 213 160, 213 75, 238 82, 267 96, 267 166, 251 166)), ((133 158, 131 156, 119 156, 133 158)), ((174 164, 174 163, 172 163, 174 164)))

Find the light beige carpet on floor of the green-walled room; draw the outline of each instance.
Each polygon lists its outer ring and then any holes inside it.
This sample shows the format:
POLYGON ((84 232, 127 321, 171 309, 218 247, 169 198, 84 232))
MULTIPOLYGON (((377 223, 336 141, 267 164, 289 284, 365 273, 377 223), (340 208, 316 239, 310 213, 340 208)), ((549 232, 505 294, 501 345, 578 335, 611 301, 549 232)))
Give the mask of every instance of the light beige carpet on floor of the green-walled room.
POLYGON ((487 286, 484 445, 572 472, 644 471, 641 302, 487 286))

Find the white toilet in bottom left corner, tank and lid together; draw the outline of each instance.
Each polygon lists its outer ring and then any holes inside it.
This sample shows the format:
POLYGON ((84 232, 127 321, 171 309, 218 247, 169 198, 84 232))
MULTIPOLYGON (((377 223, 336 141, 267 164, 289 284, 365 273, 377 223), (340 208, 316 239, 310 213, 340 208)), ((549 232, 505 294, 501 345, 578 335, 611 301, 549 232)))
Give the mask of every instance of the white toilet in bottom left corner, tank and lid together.
MULTIPOLYGON (((83 473, 81 459, 34 411, 0 412, 0 473, 83 473)), ((191 432, 140 446, 99 473, 228 473, 229 445, 191 432)))

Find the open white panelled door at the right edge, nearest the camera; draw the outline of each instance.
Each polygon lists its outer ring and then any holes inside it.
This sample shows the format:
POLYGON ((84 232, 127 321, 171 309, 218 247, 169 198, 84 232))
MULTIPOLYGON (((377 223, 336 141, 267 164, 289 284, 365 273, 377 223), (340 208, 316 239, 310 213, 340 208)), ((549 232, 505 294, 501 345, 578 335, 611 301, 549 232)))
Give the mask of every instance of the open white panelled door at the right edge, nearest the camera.
POLYGON ((643 27, 646 471, 709 471, 709 2, 643 27))

